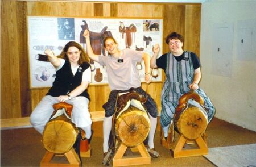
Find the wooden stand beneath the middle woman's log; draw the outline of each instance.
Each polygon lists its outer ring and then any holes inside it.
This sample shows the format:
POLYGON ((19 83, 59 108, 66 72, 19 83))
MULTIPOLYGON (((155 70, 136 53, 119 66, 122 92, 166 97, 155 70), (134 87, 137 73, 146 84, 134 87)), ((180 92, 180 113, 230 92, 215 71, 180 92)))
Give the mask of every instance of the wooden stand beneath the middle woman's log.
POLYGON ((151 157, 147 152, 145 145, 139 144, 136 147, 141 154, 141 157, 129 157, 127 156, 123 158, 123 154, 125 153, 127 146, 122 143, 118 143, 117 151, 115 152, 115 156, 112 160, 112 165, 114 166, 130 166, 130 165, 143 165, 143 164, 150 164, 151 157))

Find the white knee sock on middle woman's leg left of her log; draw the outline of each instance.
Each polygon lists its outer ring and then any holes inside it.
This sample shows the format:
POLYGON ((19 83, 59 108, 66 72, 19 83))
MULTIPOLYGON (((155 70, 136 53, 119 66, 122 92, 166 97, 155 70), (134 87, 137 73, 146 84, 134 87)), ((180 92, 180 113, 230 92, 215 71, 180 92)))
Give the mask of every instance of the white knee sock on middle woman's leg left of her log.
POLYGON ((105 117, 103 120, 103 152, 108 152, 109 149, 109 135, 111 132, 112 127, 112 118, 113 115, 110 117, 105 117))

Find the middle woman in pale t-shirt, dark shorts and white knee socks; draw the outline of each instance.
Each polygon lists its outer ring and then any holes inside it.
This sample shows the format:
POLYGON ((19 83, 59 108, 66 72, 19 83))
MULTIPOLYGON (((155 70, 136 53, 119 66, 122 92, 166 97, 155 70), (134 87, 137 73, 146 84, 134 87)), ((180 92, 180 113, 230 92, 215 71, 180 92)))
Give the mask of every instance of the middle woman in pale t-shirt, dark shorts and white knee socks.
MULTIPOLYGON (((103 122, 104 127, 104 142, 103 152, 104 156, 109 150, 109 135, 112 127, 112 117, 115 112, 115 101, 118 93, 129 91, 131 88, 137 93, 146 97, 146 92, 141 87, 141 80, 137 70, 137 62, 144 61, 145 64, 145 81, 151 82, 150 76, 150 56, 141 51, 133 51, 129 48, 119 50, 118 43, 113 37, 106 37, 104 39, 104 47, 108 51, 109 56, 100 56, 93 53, 90 45, 90 33, 88 30, 84 31, 84 37, 86 39, 86 52, 90 59, 98 62, 102 66, 106 66, 106 72, 108 73, 108 82, 110 87, 110 95, 108 102, 103 105, 105 109, 105 118, 103 122)), ((150 116, 150 133, 148 135, 148 152, 151 157, 159 157, 159 153, 154 151, 154 135, 157 123, 158 109, 154 99, 147 95, 147 102, 144 103, 150 116)))

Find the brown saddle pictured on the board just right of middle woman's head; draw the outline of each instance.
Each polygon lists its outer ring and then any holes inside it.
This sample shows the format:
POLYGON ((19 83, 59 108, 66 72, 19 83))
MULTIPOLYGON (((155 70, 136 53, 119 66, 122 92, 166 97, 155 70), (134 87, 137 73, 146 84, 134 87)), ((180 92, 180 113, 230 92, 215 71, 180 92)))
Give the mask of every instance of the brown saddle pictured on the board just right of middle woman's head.
MULTIPOLYGON (((124 38, 124 34, 126 34, 125 36, 125 47, 126 48, 130 48, 131 43, 133 41, 133 37, 131 36, 132 32, 136 32, 137 28, 134 24, 130 24, 129 27, 125 27, 125 24, 123 24, 123 22, 120 22, 120 26, 119 26, 119 32, 121 32, 122 34, 122 39, 124 38)), ((135 37, 134 37, 135 39, 135 37)))

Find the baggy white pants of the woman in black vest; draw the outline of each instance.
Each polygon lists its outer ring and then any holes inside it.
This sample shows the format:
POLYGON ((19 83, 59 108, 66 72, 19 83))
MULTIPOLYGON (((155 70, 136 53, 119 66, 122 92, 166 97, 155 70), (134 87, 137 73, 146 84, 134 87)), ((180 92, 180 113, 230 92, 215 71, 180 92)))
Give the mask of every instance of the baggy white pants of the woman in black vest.
MULTIPOLYGON (((71 118, 76 127, 84 128, 92 124, 88 110, 89 100, 86 97, 79 96, 65 102, 73 106, 71 118)), ((57 97, 46 95, 30 115, 30 123, 41 134, 54 111, 55 103, 59 103, 57 97)))

